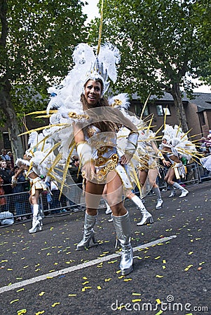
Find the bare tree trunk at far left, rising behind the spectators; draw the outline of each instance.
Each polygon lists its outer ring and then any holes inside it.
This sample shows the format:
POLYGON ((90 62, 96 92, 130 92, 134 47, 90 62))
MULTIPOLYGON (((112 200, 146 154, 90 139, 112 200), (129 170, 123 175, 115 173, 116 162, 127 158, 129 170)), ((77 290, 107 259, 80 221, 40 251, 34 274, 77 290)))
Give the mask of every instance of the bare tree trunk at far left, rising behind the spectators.
POLYGON ((7 82, 5 85, 1 85, 1 109, 3 109, 6 116, 6 121, 8 124, 8 134, 11 141, 11 149, 13 152, 14 160, 16 160, 17 158, 22 158, 24 151, 21 138, 18 137, 18 134, 20 134, 20 129, 18 126, 18 120, 15 115, 13 104, 11 104, 10 91, 10 83, 7 82))

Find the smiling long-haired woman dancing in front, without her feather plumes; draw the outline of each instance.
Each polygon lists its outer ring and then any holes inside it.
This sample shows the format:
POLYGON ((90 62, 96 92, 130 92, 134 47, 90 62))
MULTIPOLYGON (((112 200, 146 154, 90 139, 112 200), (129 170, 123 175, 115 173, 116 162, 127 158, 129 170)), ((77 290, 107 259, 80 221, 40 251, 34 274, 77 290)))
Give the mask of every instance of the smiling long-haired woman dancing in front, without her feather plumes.
MULTIPOLYGON (((98 67, 100 65, 98 64, 98 67)), ((97 66, 96 66, 97 68, 97 66)), ((95 240, 93 230, 97 208, 107 184, 107 201, 113 214, 116 235, 121 243, 121 273, 132 272, 132 246, 130 245, 130 218, 123 206, 123 185, 132 188, 130 179, 122 165, 130 162, 137 147, 138 132, 135 125, 125 118, 118 109, 111 109, 107 99, 103 97, 104 80, 99 74, 89 76, 81 95, 83 110, 91 117, 91 123, 74 124, 74 139, 79 154, 83 177, 86 179, 86 215, 83 239, 77 245, 78 250, 88 247, 90 240, 95 240), (101 111, 99 109, 105 109, 101 111), (92 112, 88 110, 91 109, 92 112), (97 111, 95 110, 97 109, 97 111), (118 111, 118 113, 117 113, 118 111), (112 116, 111 116, 112 114, 112 116), (93 118, 100 118, 100 121, 93 118), (112 121, 111 118, 112 117, 112 121), (93 123, 92 123, 93 121, 93 123), (116 123, 113 123, 115 122, 116 123), (116 132, 119 125, 125 125, 130 130, 128 147, 121 158, 116 148, 116 132), (123 183, 123 184, 122 184, 123 183)))

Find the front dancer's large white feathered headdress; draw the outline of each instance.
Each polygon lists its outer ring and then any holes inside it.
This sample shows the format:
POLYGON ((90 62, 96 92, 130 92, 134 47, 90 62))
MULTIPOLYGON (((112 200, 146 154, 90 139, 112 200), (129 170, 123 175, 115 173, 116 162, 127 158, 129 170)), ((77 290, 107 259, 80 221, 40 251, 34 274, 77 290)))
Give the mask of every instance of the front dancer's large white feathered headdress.
POLYGON ((116 64, 120 62, 120 52, 111 43, 100 46, 99 55, 96 47, 79 43, 73 52, 74 67, 60 85, 49 87, 51 94, 47 112, 52 108, 71 109, 81 114, 80 97, 88 80, 102 80, 102 95, 107 92, 109 80, 116 82, 116 64))

